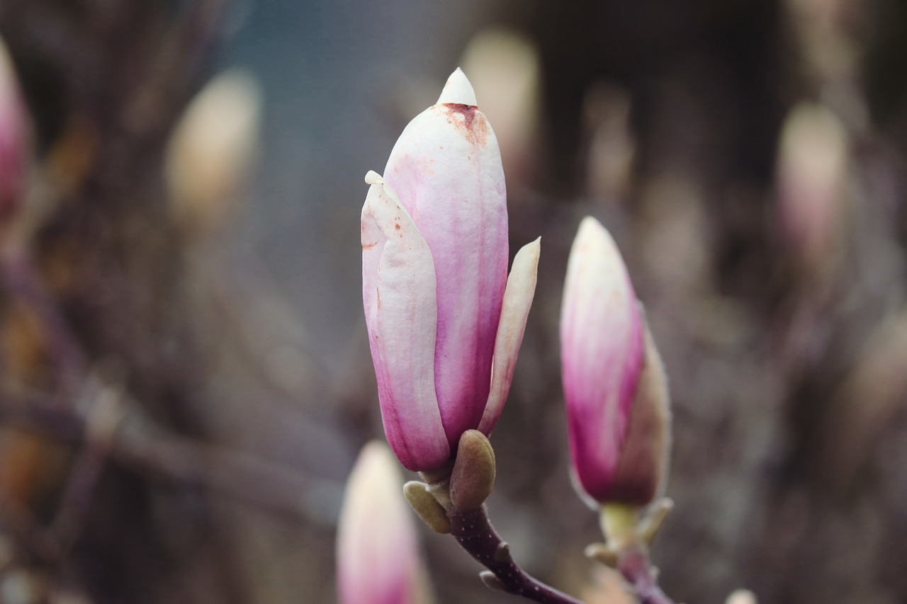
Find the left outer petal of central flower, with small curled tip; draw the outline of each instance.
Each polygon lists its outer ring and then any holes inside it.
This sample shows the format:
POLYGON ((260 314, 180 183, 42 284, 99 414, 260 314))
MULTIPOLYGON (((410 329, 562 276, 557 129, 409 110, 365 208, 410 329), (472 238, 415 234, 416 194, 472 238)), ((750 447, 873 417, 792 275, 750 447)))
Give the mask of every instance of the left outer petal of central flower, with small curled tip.
POLYGON ((434 395, 436 330, 432 253, 375 172, 362 209, 362 297, 387 442, 413 471, 450 457, 434 395))

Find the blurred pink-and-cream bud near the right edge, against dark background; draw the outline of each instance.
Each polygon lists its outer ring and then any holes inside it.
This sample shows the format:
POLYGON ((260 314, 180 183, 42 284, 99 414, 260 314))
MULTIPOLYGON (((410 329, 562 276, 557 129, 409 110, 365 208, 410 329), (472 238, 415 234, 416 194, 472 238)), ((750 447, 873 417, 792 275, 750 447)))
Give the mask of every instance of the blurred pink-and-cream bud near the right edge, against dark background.
POLYGON ((781 131, 776 178, 782 232, 804 268, 834 258, 846 177, 844 125, 821 105, 796 105, 781 131))

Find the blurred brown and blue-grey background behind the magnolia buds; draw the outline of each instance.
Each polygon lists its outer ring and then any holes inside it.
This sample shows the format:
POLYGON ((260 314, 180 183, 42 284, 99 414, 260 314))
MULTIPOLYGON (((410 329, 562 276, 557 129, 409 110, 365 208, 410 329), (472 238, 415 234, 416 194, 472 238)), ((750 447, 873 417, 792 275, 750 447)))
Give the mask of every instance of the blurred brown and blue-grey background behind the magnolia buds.
MULTIPOLYGON (((493 435, 516 560, 620 601, 558 365, 592 214, 673 395, 662 587, 907 600, 907 3, 2 0, 0 37, 0 601, 336 600, 382 436, 363 177, 457 65, 512 251, 541 235, 493 435)), ((420 535, 439 604, 509 599, 420 535)))

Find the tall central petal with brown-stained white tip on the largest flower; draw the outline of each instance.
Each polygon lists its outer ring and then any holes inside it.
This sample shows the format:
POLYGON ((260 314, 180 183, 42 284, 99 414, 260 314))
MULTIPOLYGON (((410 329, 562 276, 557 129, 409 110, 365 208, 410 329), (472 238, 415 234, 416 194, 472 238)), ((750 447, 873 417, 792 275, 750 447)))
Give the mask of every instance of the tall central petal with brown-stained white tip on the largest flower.
POLYGON ((428 242, 437 275, 435 389, 452 446, 482 418, 507 280, 501 153, 462 72, 406 126, 385 180, 428 242))

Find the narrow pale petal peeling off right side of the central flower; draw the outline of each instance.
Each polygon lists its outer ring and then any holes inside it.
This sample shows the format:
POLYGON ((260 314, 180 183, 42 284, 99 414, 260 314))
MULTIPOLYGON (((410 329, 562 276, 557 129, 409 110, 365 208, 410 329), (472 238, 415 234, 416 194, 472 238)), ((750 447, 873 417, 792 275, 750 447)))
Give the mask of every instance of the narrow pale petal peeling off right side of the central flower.
POLYGON ((492 387, 488 393, 488 403, 479 431, 485 435, 492 434, 494 424, 507 401, 513 379, 513 366, 520 353, 522 334, 526 329, 526 318, 535 297, 535 284, 539 268, 541 238, 523 246, 513 258, 513 268, 507 279, 504 300, 501 308, 501 322, 494 341, 494 358, 492 365, 492 387))

